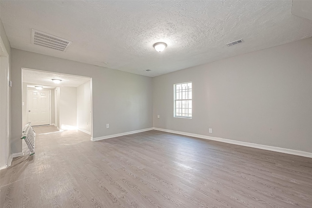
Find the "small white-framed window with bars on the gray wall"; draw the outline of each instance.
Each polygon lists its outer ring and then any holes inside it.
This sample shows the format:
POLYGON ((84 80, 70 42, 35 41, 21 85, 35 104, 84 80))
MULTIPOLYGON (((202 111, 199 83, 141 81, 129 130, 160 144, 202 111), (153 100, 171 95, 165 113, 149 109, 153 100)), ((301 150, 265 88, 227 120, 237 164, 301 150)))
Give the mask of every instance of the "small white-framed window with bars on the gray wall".
POLYGON ((192 118, 192 82, 174 85, 174 116, 192 118))

